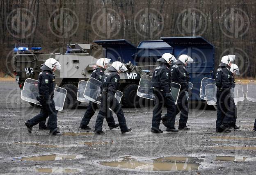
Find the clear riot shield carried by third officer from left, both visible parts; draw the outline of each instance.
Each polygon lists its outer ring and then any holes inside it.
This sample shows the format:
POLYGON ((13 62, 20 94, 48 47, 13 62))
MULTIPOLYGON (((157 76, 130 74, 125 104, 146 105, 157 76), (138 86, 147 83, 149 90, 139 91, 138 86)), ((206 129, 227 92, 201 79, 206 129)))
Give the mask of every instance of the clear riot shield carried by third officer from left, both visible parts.
MULTIPOLYGON (((117 98, 118 102, 121 102, 123 97, 123 93, 121 91, 116 92, 115 98, 117 98)), ((101 104, 101 82, 96 80, 95 78, 89 78, 87 84, 85 86, 84 98, 91 102, 101 104)))

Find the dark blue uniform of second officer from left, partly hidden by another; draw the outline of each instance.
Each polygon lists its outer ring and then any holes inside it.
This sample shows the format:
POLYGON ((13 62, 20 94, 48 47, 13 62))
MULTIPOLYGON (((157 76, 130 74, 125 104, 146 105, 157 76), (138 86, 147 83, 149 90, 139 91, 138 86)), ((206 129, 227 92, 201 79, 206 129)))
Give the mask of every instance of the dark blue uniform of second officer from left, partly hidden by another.
MULTIPOLYGON (((96 80, 101 81, 103 75, 104 75, 104 71, 100 68, 97 68, 96 70, 94 70, 92 72, 91 77, 95 78, 96 80)), ((91 102, 91 101, 89 102, 87 110, 85 111, 84 117, 82 118, 82 121, 80 123, 80 128, 84 128, 89 124, 89 122, 91 120, 91 117, 95 114, 95 111, 98 108, 99 107, 98 107, 97 103, 94 103, 94 102, 91 102)), ((113 125, 115 125, 115 120, 114 120, 112 112, 110 112, 109 117, 106 117, 106 120, 107 120, 107 124, 108 124, 109 127, 112 127, 113 125)))

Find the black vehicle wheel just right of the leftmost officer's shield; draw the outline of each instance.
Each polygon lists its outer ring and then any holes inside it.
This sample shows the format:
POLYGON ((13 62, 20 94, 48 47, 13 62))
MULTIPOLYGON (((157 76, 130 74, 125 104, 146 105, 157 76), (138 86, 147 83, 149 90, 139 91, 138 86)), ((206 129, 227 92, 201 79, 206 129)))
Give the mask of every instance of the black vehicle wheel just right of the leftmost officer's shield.
POLYGON ((76 99, 77 87, 74 84, 63 84, 62 88, 67 90, 66 100, 64 102, 64 109, 75 109, 79 102, 76 99))

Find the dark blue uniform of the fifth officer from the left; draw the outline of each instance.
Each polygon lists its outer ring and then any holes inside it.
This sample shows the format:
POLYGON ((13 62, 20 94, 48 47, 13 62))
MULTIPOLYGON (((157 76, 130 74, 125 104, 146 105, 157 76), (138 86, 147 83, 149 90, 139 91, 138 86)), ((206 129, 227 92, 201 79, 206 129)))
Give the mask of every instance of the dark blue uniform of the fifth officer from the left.
POLYGON ((190 80, 189 73, 185 68, 185 65, 181 61, 177 61, 175 65, 171 67, 171 81, 181 85, 181 91, 178 96, 178 101, 176 105, 176 115, 181 112, 179 129, 187 127, 187 118, 188 118, 188 102, 187 95, 185 91, 191 91, 188 82, 190 80))

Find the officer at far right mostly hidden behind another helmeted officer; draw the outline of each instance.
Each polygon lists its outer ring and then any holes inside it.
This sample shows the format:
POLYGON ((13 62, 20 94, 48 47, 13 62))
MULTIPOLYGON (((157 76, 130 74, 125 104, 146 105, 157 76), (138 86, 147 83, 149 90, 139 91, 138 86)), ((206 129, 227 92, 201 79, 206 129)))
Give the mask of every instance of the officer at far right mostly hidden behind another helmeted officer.
MULTIPOLYGON (((232 77, 232 88, 235 88, 235 75, 239 75, 240 72, 239 72, 239 67, 236 65, 236 64, 231 64, 230 66, 230 72, 232 73, 231 77, 232 77)), ((234 102, 234 101, 232 101, 234 102)), ((234 128, 234 129, 240 129, 239 126, 236 125, 236 119, 237 119, 237 108, 236 108, 236 105, 235 105, 235 102, 234 102, 234 117, 231 121, 231 124, 230 124, 230 128, 234 128)))

